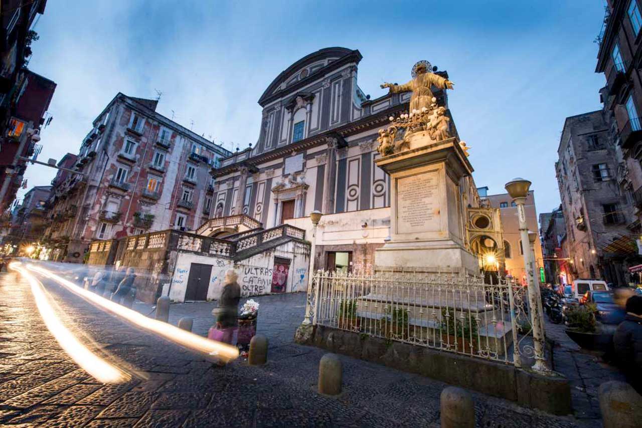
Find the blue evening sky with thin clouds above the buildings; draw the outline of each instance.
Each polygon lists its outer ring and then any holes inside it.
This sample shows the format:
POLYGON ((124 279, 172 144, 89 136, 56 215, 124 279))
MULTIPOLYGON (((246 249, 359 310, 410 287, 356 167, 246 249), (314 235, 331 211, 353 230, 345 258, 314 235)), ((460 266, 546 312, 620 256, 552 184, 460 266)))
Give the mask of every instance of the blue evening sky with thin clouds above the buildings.
MULTIPOLYGON (((40 160, 77 153, 123 92, 227 148, 254 144, 257 100, 282 70, 329 46, 359 49, 376 98, 421 59, 446 69, 449 107, 478 186, 533 182, 538 212, 559 205, 555 160, 567 116, 601 108, 594 73, 603 0, 449 2, 49 0, 30 68, 58 83, 40 160), (193 125, 192 125, 193 123, 193 125)), ((55 169, 30 166, 32 185, 55 169)), ((21 191, 24 194, 24 191, 21 191)))

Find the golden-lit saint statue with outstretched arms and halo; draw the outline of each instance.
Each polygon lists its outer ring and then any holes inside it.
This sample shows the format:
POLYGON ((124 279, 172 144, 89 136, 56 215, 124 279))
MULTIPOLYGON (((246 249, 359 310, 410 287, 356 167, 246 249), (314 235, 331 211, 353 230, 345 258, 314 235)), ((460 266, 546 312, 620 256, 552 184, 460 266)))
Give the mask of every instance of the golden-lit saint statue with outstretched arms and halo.
POLYGON ((439 89, 453 89, 453 82, 442 78, 438 74, 431 72, 432 65, 425 60, 417 62, 412 67, 413 79, 403 85, 394 83, 384 83, 382 88, 390 88, 390 92, 397 94, 399 92, 409 92, 412 90, 410 98, 410 113, 413 110, 421 111, 422 108, 429 109, 433 99, 433 91, 430 90, 432 85, 439 89))

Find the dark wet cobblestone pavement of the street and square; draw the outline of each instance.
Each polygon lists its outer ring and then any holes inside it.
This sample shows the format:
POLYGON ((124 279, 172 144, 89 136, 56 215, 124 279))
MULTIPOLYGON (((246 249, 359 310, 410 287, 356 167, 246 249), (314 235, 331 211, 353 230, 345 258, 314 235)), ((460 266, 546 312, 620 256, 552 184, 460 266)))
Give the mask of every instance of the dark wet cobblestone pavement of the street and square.
MULTIPOLYGON (((65 318, 86 337, 144 374, 103 385, 58 347, 42 323, 26 281, 0 273, 0 425, 8 427, 438 427, 446 386, 349 357, 344 392, 315 392, 324 352, 292 343, 304 295, 262 296, 259 332, 268 363, 240 359, 225 368, 146 334, 42 280, 65 318)), ((171 305, 170 322, 195 318, 205 334, 213 303, 171 305)), ((146 314, 151 305, 136 304, 146 314)), ((584 379, 584 378, 582 378, 584 379)), ((492 381, 492 379, 489 379, 492 381)), ((585 380, 583 380, 585 381, 585 380)), ((555 417, 474 393, 479 427, 583 427, 599 420, 555 417)))

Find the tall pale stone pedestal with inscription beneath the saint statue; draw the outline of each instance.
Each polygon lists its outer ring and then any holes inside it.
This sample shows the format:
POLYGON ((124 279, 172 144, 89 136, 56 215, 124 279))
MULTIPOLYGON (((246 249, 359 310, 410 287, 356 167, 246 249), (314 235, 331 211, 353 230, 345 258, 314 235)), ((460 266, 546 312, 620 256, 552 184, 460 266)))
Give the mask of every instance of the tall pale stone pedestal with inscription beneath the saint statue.
POLYGON ((376 270, 479 273, 464 243, 460 187, 473 167, 455 138, 435 142, 419 131, 408 141, 409 150, 376 160, 391 180, 390 241, 376 250, 376 270))

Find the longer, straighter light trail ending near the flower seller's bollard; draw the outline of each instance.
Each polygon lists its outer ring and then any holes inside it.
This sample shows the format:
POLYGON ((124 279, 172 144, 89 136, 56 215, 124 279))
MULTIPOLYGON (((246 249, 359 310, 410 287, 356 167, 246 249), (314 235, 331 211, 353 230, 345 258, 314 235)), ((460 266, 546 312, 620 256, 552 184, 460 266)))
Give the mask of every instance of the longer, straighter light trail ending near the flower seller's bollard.
POLYGON ((198 336, 198 334, 179 329, 178 327, 175 327, 163 321, 148 318, 143 314, 134 311, 133 309, 128 309, 125 306, 117 304, 116 302, 112 302, 111 300, 92 293, 91 291, 85 290, 82 287, 74 284, 73 282, 56 275, 48 269, 33 265, 29 265, 27 266, 27 268, 55 280, 56 282, 58 282, 58 284, 64 286, 75 295, 81 296, 82 298, 85 298, 85 300, 89 300, 89 302, 91 302, 92 304, 97 305, 105 309, 106 311, 119 316, 120 318, 123 318, 124 320, 134 324, 135 326, 158 334, 159 336, 177 343, 182 347, 200 352, 202 354, 213 355, 223 361, 235 359, 239 355, 239 350, 237 347, 233 347, 232 345, 228 345, 227 343, 213 341, 211 339, 204 338, 203 336, 198 336))

